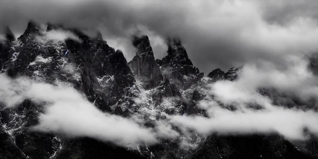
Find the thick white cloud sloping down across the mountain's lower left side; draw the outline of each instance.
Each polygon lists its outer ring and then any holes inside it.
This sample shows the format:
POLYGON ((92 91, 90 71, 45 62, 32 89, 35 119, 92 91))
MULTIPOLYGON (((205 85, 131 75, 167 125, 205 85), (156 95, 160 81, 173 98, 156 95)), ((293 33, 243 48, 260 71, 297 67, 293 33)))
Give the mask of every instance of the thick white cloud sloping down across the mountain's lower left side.
POLYGON ((1 74, 0 102, 15 107, 25 99, 46 102, 45 114, 33 129, 70 137, 92 137, 121 146, 135 147, 157 142, 155 133, 135 122, 101 112, 69 86, 52 86, 31 79, 9 79, 1 74))

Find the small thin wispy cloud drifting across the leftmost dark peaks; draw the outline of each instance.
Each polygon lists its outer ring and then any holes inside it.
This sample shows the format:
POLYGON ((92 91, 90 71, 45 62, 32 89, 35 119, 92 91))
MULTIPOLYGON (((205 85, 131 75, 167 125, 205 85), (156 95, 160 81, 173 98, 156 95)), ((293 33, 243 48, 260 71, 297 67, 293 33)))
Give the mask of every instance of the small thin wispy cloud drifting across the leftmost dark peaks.
POLYGON ((38 42, 44 43, 47 40, 61 40, 73 39, 78 42, 82 42, 74 33, 71 31, 65 30, 52 30, 52 31, 43 31, 43 36, 37 36, 36 39, 38 42))

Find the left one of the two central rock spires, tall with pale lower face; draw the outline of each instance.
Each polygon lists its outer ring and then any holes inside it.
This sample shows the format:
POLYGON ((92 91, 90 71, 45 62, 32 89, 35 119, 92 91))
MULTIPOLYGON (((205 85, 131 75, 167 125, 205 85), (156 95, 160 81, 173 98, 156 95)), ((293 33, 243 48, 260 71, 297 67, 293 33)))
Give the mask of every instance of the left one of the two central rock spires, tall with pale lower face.
POLYGON ((128 63, 137 79, 145 89, 151 89, 162 83, 163 76, 156 63, 148 36, 135 37, 133 45, 137 48, 136 56, 128 63))

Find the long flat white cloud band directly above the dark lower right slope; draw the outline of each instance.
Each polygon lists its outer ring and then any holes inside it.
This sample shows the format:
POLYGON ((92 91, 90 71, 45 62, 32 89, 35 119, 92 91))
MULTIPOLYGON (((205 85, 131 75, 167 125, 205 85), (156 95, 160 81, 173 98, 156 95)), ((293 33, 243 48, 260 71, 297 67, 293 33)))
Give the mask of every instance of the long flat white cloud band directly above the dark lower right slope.
POLYGON ((306 140, 309 132, 318 135, 316 121, 318 114, 313 111, 301 111, 276 108, 275 111, 230 111, 215 108, 214 116, 168 116, 171 123, 178 127, 196 130, 199 134, 250 135, 278 133, 289 140, 306 140))

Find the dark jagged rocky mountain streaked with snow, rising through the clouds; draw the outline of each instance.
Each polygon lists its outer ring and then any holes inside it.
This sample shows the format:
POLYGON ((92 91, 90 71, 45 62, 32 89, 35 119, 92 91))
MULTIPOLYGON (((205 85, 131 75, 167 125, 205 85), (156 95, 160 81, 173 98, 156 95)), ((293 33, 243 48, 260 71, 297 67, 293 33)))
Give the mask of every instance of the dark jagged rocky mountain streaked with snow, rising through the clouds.
MULTIPOLYGON (((34 21, 17 40, 7 28, 7 40, 0 44, 1 73, 52 85, 69 84, 103 112, 142 116, 139 124, 145 128, 166 121, 163 113, 206 116, 205 110, 197 107, 197 102, 205 98, 206 82, 234 81, 242 68, 233 67, 226 73, 215 69, 207 75, 211 79, 205 81, 178 38, 168 39, 167 56, 160 60, 155 59, 146 35, 134 37, 132 44, 137 52, 127 62, 123 52, 109 46, 100 33, 91 38, 78 29, 54 24, 48 24, 46 31, 54 29, 70 31, 80 41, 39 41, 45 32, 34 21)), ((173 129, 181 136, 128 149, 85 136, 69 138, 32 131, 38 116, 45 113, 41 102, 26 99, 14 109, 0 106, 1 159, 317 158, 318 152, 315 141, 291 143, 277 134, 200 137, 183 134, 178 127, 173 129), (181 149, 180 141, 191 148, 181 149)))

